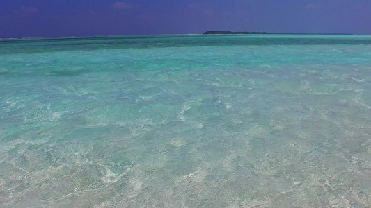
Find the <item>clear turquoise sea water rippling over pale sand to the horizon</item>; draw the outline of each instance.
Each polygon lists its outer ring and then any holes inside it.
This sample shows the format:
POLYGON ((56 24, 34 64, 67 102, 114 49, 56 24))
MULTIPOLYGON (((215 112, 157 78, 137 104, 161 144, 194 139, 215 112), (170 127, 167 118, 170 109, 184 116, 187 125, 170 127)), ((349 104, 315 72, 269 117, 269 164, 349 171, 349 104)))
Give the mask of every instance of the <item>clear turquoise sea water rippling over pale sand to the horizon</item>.
POLYGON ((0 207, 370 207, 371 37, 0 40, 0 207))

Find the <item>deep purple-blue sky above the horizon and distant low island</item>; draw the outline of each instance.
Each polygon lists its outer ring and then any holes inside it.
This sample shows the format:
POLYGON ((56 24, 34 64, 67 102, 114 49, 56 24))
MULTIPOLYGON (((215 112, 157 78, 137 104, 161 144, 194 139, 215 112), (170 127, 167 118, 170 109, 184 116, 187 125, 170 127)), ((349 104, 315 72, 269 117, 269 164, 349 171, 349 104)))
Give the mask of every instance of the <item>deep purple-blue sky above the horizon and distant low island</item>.
POLYGON ((370 0, 0 0, 0 37, 265 31, 371 34, 370 0))

